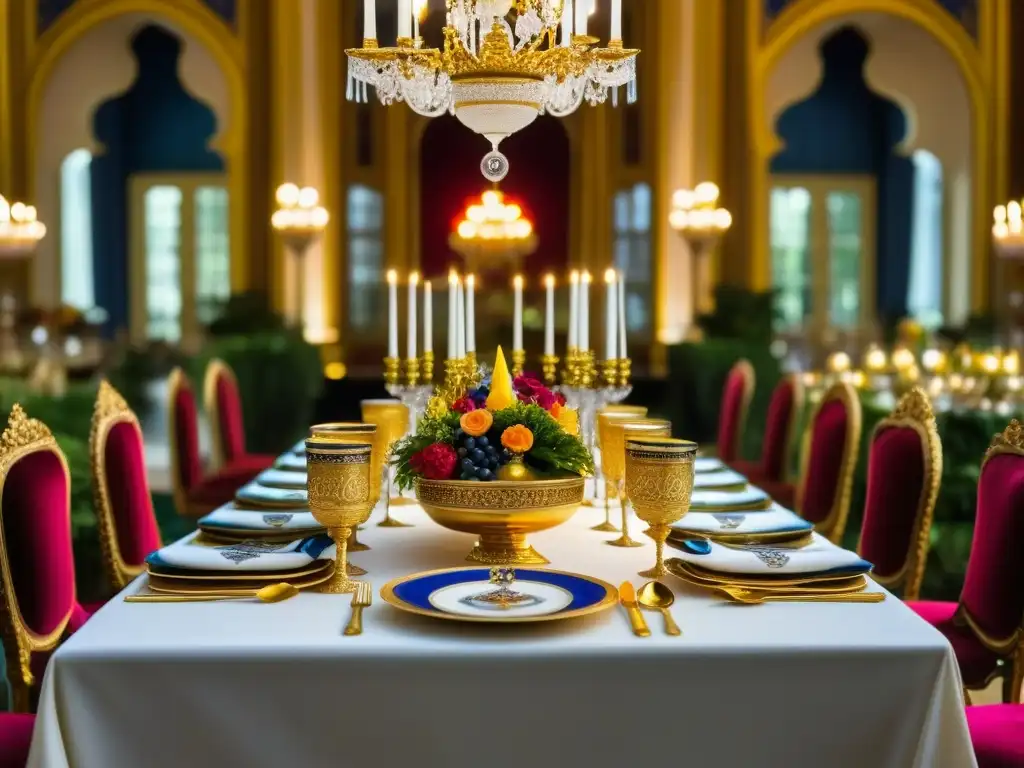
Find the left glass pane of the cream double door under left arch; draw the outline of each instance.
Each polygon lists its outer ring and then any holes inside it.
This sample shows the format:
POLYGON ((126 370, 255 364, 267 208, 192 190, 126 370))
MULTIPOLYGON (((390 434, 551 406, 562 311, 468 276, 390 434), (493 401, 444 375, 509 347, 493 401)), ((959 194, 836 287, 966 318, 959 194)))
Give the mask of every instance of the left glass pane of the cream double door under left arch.
POLYGON ((146 337, 181 338, 181 189, 153 186, 145 191, 146 337))

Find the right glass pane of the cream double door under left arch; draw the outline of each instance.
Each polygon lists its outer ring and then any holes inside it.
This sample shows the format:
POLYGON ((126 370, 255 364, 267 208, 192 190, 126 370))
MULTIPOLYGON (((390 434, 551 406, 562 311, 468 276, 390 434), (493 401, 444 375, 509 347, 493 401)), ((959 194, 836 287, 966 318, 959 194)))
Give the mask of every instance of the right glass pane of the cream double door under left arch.
POLYGON ((196 313, 213 323, 231 295, 231 256, 227 240, 227 189, 196 189, 196 313))

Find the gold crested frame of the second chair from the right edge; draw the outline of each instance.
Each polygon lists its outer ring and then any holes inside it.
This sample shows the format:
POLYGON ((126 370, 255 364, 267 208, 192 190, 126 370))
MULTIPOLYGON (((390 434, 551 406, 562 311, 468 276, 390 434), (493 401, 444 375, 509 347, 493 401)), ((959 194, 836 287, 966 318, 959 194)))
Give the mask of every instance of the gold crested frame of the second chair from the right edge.
MULTIPOLYGON (((942 482, 942 441, 939 439, 932 401, 924 389, 921 387, 910 389, 896 403, 893 412, 874 426, 871 432, 872 446, 887 429, 911 429, 918 434, 921 439, 925 472, 910 534, 910 545, 902 567, 890 577, 871 573, 871 578, 886 589, 902 587, 904 600, 916 600, 921 594, 921 583, 925 579, 935 503, 938 501, 939 485, 942 482)), ((861 528, 861 539, 857 543, 857 554, 861 553, 862 545, 863 528, 861 528)))

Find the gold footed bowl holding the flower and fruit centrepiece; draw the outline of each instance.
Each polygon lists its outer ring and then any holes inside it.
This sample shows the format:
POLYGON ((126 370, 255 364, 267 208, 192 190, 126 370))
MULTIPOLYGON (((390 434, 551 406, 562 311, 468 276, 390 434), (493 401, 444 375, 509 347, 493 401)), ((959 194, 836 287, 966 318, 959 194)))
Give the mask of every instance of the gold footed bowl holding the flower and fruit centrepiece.
POLYGON ((561 525, 583 504, 583 477, 416 483, 416 498, 434 522, 479 537, 466 559, 483 565, 550 562, 526 542, 526 535, 561 525))

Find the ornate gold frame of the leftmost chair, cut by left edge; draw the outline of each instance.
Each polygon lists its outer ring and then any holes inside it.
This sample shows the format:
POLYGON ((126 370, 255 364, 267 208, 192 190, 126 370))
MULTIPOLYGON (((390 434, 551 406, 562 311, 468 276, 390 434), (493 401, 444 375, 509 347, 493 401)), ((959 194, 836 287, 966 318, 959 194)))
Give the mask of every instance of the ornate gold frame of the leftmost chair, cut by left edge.
MULTIPOLYGON (((15 402, 7 419, 7 428, 0 434, 0 499, 3 499, 4 485, 14 465, 33 454, 40 453, 53 454, 63 467, 68 487, 65 506, 71 524, 71 471, 68 468, 68 460, 49 428, 38 419, 30 419, 15 402)), ((32 672, 32 654, 53 650, 60 643, 75 610, 77 597, 73 591, 68 614, 51 632, 40 635, 30 629, 22 614, 14 592, 14 578, 7 558, 7 541, 3 525, 0 525, 0 583, 3 586, 3 596, 0 601, 0 636, 3 638, 4 659, 7 664, 7 678, 12 693, 11 709, 14 712, 28 713, 32 711, 32 689, 36 684, 32 672)))

